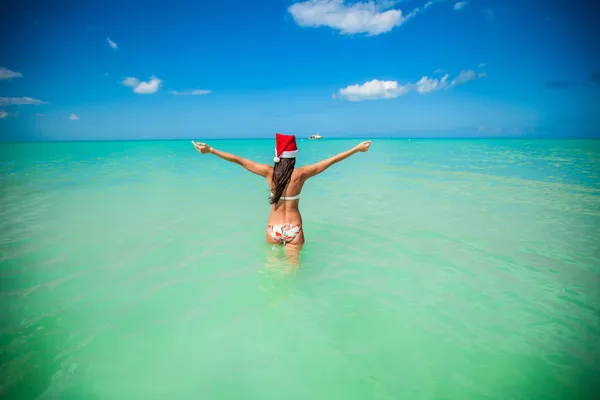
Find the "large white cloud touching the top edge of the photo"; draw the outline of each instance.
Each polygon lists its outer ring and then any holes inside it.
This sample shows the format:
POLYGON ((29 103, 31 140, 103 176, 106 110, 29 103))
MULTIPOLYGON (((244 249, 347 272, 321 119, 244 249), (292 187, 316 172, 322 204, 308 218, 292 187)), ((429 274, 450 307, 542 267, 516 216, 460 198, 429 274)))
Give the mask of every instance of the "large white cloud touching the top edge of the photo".
POLYGON ((346 4, 345 0, 307 0, 292 4, 288 11, 302 27, 327 26, 342 34, 365 33, 369 36, 390 32, 433 4, 426 3, 407 15, 402 10, 389 9, 393 2, 373 0, 346 4))

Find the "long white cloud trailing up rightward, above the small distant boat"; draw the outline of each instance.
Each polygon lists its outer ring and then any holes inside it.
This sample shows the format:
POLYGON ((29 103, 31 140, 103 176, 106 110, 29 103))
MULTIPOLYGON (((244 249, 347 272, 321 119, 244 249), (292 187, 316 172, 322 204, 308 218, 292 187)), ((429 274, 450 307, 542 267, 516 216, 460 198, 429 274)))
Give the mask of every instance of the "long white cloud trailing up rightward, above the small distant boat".
POLYGON ((403 96, 411 91, 426 94, 438 90, 450 89, 476 79, 481 79, 485 76, 485 72, 477 73, 473 70, 462 70, 453 80, 450 80, 449 74, 446 74, 441 78, 423 76, 417 82, 407 83, 405 85, 400 84, 398 81, 380 81, 373 79, 361 85, 350 85, 340 89, 333 97, 355 102, 364 100, 389 100, 403 96))

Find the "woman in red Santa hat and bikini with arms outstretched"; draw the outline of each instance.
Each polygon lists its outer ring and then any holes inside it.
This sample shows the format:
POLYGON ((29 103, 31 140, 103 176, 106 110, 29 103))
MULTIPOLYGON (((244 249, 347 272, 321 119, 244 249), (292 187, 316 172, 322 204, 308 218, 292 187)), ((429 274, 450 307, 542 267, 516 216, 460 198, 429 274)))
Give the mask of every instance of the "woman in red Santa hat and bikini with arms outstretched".
POLYGON ((311 177, 320 174, 333 164, 349 156, 369 150, 370 141, 362 142, 356 147, 322 160, 313 165, 296 168, 296 137, 293 135, 275 134, 276 148, 274 166, 259 164, 214 149, 206 143, 193 142, 202 154, 214 154, 224 160, 236 163, 248 171, 264 177, 271 187, 269 202, 272 205, 267 224, 266 240, 269 244, 281 244, 286 247, 286 254, 297 255, 304 244, 302 216, 298 209, 300 192, 304 183, 311 177))

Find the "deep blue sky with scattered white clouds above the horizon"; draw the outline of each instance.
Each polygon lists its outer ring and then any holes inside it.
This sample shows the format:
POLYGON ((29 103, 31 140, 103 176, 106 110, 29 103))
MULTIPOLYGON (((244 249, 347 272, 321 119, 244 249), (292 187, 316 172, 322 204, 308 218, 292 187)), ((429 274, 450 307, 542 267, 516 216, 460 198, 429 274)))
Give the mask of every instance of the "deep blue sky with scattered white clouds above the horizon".
POLYGON ((599 137, 593 1, 19 1, 0 140, 599 137))

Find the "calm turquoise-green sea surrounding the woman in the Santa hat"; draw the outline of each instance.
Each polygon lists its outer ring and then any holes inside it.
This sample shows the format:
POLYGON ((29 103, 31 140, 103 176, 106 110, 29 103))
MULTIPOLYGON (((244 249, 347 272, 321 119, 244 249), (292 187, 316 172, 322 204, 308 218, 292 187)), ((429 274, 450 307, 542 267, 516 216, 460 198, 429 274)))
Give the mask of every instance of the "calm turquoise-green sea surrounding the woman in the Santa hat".
MULTIPOLYGON (((272 163, 273 140, 208 143, 272 163)), ((375 139, 306 184, 295 273, 266 181, 189 141, 0 165, 1 398, 599 393, 600 141, 375 139)))

